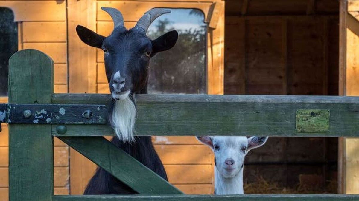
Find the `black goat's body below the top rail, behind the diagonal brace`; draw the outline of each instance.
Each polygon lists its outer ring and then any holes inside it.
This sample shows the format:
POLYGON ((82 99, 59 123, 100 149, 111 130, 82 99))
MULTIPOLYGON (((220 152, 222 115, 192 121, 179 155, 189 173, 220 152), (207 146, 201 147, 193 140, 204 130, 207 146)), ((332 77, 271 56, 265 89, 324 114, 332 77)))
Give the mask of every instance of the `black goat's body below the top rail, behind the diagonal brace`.
MULTIPOLYGON (((136 158, 143 165, 156 172, 159 176, 167 180, 167 175, 160 161, 153 144, 151 137, 135 137, 136 142, 132 144, 123 143, 117 137, 113 137, 112 143, 116 147, 129 153, 132 157, 136 158)), ((140 181, 139 181, 140 182, 140 181)), ((106 170, 98 167, 95 175, 89 181, 85 195, 100 195, 100 194, 138 194, 132 188, 112 176, 106 170)))

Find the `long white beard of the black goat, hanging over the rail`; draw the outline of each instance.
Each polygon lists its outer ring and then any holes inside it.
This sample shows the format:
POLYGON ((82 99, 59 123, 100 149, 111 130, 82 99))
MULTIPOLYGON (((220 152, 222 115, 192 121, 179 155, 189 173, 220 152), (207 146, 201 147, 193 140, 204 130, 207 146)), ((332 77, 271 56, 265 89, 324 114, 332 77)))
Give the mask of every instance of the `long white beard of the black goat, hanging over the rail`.
POLYGON ((136 107, 130 97, 116 100, 112 110, 112 127, 118 139, 133 142, 136 121, 136 107))

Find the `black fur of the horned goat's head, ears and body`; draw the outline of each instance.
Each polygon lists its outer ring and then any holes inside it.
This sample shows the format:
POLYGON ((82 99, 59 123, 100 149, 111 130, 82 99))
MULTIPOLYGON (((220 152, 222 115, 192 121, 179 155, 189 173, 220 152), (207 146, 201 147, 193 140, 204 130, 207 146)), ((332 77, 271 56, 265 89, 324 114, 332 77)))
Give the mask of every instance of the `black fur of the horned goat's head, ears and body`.
MULTIPOLYGON (((151 57, 158 52, 171 49, 178 39, 177 31, 169 31, 155 40, 149 39, 138 29, 127 30, 117 27, 111 35, 105 37, 83 26, 76 27, 80 39, 93 47, 101 48, 104 53, 106 76, 111 93, 120 92, 113 87, 114 75, 120 72, 125 78, 122 92, 131 90, 135 93, 147 93, 148 64, 151 57)), ((113 100, 114 101, 114 100, 113 100)), ((132 99, 134 101, 134 99, 132 99)), ((134 101, 135 102, 135 101, 134 101)), ((113 103, 111 104, 111 107, 113 103)), ((112 111, 112 108, 110 109, 112 111)), ((109 117, 112 115, 110 114, 109 117)), ((111 122, 111 118, 109 119, 111 122)), ((127 143, 114 137, 111 141, 116 147, 129 153, 146 167, 167 180, 163 164, 158 157, 151 137, 135 137, 135 142, 127 143)), ((141 181, 138 181, 141 182, 141 181)), ((129 186, 113 177, 110 173, 97 168, 84 192, 87 195, 100 194, 138 194, 129 186)))

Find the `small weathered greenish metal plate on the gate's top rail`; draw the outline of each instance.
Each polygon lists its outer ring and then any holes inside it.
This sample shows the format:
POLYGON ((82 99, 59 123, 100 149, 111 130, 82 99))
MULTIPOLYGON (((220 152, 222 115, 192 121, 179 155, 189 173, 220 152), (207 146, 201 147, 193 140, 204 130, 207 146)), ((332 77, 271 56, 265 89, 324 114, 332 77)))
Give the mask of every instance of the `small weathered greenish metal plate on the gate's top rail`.
POLYGON ((328 109, 297 109, 295 130, 299 133, 329 132, 328 109))

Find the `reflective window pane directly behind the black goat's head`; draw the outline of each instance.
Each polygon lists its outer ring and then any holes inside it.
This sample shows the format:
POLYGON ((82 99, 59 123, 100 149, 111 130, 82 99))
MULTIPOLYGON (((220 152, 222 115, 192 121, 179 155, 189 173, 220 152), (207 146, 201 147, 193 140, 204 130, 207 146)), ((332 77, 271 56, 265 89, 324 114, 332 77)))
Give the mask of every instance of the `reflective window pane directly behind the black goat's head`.
POLYGON ((169 9, 152 23, 148 36, 179 33, 176 45, 155 55, 149 65, 148 93, 206 93, 206 31, 204 14, 196 9, 169 9))

